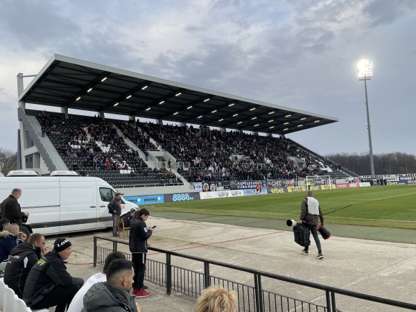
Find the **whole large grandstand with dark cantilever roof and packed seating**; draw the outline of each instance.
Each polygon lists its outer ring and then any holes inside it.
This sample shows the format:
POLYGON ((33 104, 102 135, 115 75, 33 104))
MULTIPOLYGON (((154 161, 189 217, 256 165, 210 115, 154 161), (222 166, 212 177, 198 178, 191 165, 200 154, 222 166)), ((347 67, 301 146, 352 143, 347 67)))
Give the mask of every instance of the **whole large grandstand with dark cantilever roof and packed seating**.
POLYGON ((193 182, 358 176, 286 138, 336 118, 62 55, 26 89, 23 78, 18 169, 78 171, 130 195, 189 191, 193 182))

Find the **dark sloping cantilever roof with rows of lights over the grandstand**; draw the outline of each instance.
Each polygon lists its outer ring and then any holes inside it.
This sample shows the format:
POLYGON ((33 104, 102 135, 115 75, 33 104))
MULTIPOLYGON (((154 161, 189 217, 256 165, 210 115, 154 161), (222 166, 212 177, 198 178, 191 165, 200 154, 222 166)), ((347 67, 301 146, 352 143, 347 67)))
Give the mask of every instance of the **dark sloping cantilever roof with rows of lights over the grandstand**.
POLYGON ((19 94, 19 101, 273 134, 338 121, 58 54, 19 94))

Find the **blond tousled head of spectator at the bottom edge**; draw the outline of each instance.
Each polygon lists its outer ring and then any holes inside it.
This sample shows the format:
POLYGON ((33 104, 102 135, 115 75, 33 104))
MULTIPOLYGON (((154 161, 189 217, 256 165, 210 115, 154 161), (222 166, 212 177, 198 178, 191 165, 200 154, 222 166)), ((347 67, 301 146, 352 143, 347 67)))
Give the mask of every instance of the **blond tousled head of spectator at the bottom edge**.
POLYGON ((237 312, 238 309, 239 303, 234 291, 211 286, 198 297, 195 312, 237 312))

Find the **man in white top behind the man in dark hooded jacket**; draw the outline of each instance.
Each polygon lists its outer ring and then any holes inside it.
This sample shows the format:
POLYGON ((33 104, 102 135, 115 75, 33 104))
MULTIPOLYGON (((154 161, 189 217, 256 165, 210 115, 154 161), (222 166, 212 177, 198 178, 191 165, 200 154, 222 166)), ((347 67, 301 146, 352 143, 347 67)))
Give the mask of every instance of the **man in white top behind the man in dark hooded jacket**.
POLYGON ((89 277, 87 281, 85 281, 85 284, 81 289, 76 293, 75 297, 73 297, 73 300, 71 301, 71 304, 69 304, 69 308, 67 312, 81 312, 81 310, 84 307, 84 295, 87 293, 89 288, 91 288, 92 285, 100 282, 100 281, 107 281, 107 268, 110 266, 110 263, 115 259, 125 259, 125 255, 122 252, 111 252, 108 254, 108 256, 105 258, 104 262, 104 268, 103 272, 97 273, 92 275, 92 277, 89 277))

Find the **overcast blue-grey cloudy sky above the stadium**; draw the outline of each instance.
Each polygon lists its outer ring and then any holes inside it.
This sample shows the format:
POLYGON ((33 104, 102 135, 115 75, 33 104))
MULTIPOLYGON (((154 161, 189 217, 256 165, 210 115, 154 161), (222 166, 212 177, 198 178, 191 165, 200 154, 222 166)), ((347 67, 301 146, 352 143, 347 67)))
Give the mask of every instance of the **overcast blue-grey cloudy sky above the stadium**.
MULTIPOLYGON (((416 1, 15 1, 0 6, 1 148, 17 150, 17 73, 54 53, 336 117, 288 135, 321 155, 416 155, 416 1)), ((30 83, 25 78, 25 86, 30 83)))

